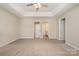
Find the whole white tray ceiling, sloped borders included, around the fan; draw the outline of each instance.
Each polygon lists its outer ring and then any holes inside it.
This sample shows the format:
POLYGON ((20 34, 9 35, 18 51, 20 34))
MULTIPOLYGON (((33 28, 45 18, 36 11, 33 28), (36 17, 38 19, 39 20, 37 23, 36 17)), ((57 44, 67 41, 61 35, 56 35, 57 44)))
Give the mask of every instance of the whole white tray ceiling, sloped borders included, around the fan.
POLYGON ((48 8, 40 8, 39 11, 28 3, 1 3, 0 6, 19 17, 52 17, 59 13, 62 14, 77 3, 44 3, 48 8))

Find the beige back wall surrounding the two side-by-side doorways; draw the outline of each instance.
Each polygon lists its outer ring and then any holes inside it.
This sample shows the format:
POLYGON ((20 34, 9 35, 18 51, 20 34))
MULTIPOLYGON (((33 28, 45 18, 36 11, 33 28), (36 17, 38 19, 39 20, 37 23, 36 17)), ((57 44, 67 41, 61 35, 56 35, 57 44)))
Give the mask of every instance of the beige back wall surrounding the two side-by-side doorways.
POLYGON ((34 22, 47 21, 49 23, 49 38, 57 39, 56 26, 57 20, 52 17, 27 17, 20 21, 20 38, 33 38, 34 36, 34 22))

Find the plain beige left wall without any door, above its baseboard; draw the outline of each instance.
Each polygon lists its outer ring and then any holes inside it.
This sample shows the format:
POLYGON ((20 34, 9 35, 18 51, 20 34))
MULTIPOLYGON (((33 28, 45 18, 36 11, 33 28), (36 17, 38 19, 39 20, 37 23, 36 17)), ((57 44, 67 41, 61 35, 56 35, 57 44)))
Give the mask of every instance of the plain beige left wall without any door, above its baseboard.
POLYGON ((18 39, 19 18, 0 8, 0 47, 18 39))

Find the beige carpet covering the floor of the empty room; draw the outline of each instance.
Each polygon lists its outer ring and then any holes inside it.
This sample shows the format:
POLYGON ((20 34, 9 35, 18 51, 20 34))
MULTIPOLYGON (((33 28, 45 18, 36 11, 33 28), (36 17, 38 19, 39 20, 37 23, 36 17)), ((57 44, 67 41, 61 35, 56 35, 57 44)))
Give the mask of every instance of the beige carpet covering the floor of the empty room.
POLYGON ((59 40, 20 39, 0 48, 1 56, 75 56, 71 47, 59 40), (70 49, 70 50, 69 50, 70 49))

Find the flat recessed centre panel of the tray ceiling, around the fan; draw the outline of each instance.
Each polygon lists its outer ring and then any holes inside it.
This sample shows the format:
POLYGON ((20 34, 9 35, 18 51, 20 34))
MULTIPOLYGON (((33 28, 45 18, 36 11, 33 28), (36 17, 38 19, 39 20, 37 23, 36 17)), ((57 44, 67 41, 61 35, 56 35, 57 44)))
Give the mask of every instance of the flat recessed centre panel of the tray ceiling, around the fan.
MULTIPOLYGON (((25 11, 29 11, 29 12, 34 12, 34 11, 36 11, 36 9, 33 7, 33 6, 26 6, 26 5, 28 5, 28 4, 26 4, 26 3, 24 3, 24 4, 18 4, 18 5, 20 5, 25 11)), ((47 4, 45 4, 45 5, 47 5, 48 6, 48 8, 44 8, 44 7, 42 7, 42 8, 40 8, 39 9, 39 11, 41 11, 41 12, 47 12, 47 11, 52 11, 52 9, 54 9, 55 8, 55 6, 58 6, 58 4, 51 4, 51 3, 47 3, 47 4)))

